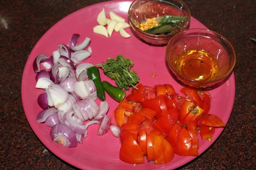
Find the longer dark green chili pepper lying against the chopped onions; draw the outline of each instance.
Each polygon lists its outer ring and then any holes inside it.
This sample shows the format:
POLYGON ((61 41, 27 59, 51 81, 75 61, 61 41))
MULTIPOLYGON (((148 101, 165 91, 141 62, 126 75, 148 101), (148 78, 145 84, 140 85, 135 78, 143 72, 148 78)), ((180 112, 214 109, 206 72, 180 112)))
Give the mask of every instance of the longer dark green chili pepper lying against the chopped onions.
POLYGON ((103 88, 100 75, 99 75, 99 68, 96 66, 89 67, 87 69, 87 75, 90 80, 92 80, 95 84, 97 90, 97 96, 100 100, 105 100, 105 90, 103 88))

